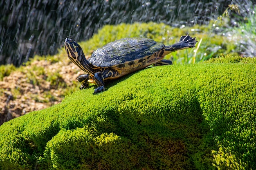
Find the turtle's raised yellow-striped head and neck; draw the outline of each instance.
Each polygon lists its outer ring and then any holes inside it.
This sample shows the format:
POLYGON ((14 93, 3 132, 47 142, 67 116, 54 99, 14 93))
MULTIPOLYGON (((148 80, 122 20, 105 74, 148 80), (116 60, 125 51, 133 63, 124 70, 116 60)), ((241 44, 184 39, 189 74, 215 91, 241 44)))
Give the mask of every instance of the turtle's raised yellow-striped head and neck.
POLYGON ((76 66, 86 73, 94 73, 95 67, 86 60, 83 50, 79 44, 77 44, 73 39, 66 38, 64 45, 67 56, 74 64, 76 64, 76 66))

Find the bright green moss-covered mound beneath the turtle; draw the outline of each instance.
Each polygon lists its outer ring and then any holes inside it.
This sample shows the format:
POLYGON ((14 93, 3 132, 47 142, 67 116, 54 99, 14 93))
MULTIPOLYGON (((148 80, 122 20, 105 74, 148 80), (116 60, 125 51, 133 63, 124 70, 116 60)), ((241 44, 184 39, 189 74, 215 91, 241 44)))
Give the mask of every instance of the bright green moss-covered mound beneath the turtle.
POLYGON ((252 169, 254 61, 157 66, 78 90, 0 126, 0 169, 252 169))

